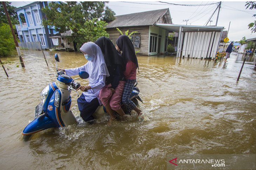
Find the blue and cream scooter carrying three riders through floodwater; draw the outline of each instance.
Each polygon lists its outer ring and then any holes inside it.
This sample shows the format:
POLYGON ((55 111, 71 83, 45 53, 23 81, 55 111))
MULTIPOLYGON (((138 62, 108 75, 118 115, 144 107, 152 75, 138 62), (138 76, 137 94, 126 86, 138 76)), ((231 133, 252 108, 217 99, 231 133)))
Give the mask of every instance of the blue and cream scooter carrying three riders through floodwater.
MULTIPOLYGON (((77 96, 79 96, 76 89, 81 85, 75 80, 82 78, 87 79, 89 74, 87 72, 79 72, 79 77, 72 79, 70 76, 66 75, 63 71, 58 71, 57 62, 60 61, 58 54, 55 54, 55 63, 56 63, 56 73, 53 73, 57 77, 55 82, 48 84, 40 93, 41 103, 38 104, 35 108, 35 118, 29 123, 24 130, 22 135, 30 137, 30 135, 46 130, 53 127, 64 127, 72 124, 78 123, 72 111, 70 110, 71 106, 71 91, 75 91, 77 96)), ((49 74, 52 75, 52 74, 49 74)), ((142 102, 142 99, 139 97, 139 88, 135 87, 130 96, 132 101, 138 105, 138 101, 142 102)), ((143 103, 143 102, 142 102, 143 103)), ((125 110, 126 108, 122 106, 125 110)), ((93 116, 95 118, 106 114, 106 109, 103 106, 99 106, 93 116)))

